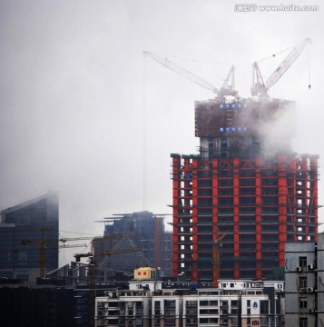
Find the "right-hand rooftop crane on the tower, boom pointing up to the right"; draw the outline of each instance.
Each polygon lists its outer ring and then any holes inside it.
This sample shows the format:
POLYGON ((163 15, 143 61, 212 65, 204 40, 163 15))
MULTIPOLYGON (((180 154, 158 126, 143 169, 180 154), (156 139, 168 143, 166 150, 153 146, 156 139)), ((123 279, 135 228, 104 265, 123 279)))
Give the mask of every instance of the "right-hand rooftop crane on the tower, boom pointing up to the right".
MULTIPOLYGON (((266 82, 263 81, 260 74, 260 68, 257 62, 253 63, 252 69, 252 87, 250 89, 252 95, 259 95, 261 97, 267 97, 268 91, 273 84, 276 84, 280 77, 285 74, 290 65, 293 64, 296 59, 299 57, 299 54, 304 50, 305 46, 310 43, 310 38, 304 39, 299 45, 296 45, 291 51, 290 54, 281 62, 277 69, 270 74, 270 77, 266 82)), ((275 54, 273 54, 275 56, 275 54)), ((310 88, 310 85, 309 85, 310 88)))

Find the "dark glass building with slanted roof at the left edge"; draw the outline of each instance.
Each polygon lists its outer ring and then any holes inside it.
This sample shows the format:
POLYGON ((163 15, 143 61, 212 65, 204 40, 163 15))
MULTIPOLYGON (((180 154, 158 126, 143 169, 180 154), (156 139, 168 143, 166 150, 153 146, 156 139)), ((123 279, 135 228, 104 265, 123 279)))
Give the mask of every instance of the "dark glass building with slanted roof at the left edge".
POLYGON ((1 212, 0 277, 35 282, 58 268, 58 209, 48 193, 1 212))

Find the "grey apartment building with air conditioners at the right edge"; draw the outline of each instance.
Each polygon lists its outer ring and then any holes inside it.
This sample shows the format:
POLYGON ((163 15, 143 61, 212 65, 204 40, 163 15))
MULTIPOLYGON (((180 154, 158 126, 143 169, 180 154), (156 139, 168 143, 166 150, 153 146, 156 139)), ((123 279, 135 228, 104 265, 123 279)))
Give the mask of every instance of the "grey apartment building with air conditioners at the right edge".
POLYGON ((286 244, 286 327, 324 325, 324 233, 317 243, 286 244))

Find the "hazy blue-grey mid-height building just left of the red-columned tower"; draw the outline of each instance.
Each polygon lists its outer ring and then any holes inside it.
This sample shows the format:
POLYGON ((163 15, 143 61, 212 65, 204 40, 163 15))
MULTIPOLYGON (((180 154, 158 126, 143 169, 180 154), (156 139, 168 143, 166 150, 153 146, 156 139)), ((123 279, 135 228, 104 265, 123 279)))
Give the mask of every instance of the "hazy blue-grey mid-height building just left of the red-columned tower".
POLYGON ((164 215, 147 211, 116 214, 105 218, 103 240, 95 240, 96 260, 101 267, 111 267, 116 271, 133 272, 140 266, 151 265, 158 268, 161 275, 172 275, 172 233, 164 229, 164 215), (113 235, 115 237, 113 237, 113 235), (103 259, 101 253, 116 250, 115 246, 127 236, 141 252, 130 252, 103 259), (145 259, 145 260, 144 260, 145 259), (126 269, 127 267, 127 269, 126 269))

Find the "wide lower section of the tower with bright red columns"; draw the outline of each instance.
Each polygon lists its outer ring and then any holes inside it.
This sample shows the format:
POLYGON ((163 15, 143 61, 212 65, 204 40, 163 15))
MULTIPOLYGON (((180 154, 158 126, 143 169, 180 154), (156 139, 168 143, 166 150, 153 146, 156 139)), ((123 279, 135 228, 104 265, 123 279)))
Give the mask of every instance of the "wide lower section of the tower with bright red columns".
POLYGON ((172 157, 173 275, 212 279, 212 244, 221 242, 221 277, 261 279, 284 267, 286 242, 315 242, 318 157, 172 157))

